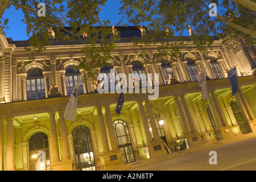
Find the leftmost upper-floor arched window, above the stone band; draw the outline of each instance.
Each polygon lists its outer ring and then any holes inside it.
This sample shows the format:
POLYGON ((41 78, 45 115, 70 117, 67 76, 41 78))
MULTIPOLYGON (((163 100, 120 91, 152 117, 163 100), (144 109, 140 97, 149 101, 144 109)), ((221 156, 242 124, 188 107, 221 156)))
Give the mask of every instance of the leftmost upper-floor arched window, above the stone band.
POLYGON ((27 100, 45 98, 45 79, 42 70, 32 68, 27 72, 27 100))

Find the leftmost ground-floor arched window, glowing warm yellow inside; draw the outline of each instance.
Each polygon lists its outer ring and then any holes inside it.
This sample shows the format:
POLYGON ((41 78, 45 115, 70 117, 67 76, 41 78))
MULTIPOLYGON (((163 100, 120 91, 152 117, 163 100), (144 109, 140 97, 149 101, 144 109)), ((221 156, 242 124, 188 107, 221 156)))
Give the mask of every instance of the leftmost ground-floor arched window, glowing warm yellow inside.
POLYGON ((37 132, 29 139, 30 171, 49 171, 49 142, 45 133, 37 132))

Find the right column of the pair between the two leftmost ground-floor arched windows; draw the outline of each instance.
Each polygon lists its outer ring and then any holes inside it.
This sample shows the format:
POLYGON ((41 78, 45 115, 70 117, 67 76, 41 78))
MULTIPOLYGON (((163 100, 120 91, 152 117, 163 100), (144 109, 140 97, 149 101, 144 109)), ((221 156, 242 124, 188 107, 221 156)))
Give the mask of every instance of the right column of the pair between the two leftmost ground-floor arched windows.
POLYGON ((61 128, 62 160, 69 160, 69 146, 67 142, 67 128, 64 111, 59 111, 59 126, 61 128))

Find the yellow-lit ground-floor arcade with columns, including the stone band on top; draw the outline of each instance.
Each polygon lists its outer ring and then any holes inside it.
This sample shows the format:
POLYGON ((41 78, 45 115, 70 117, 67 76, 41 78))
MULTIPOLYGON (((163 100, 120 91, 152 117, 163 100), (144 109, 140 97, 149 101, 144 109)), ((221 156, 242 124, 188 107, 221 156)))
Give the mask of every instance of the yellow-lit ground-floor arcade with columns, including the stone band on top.
POLYGON ((256 132, 256 76, 207 81, 207 100, 198 82, 159 86, 148 94, 78 96, 77 119, 65 121, 69 97, 1 104, 2 170, 104 170, 256 132))

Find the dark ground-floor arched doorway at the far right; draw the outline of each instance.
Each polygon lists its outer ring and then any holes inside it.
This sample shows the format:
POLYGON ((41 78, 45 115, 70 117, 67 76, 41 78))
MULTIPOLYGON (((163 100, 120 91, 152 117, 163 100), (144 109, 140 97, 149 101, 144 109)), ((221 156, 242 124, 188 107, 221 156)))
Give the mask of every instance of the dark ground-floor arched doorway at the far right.
POLYGON ((243 134, 250 133, 237 102, 230 101, 230 106, 231 106, 231 109, 233 110, 235 119, 237 120, 237 123, 240 126, 242 133, 243 134))

